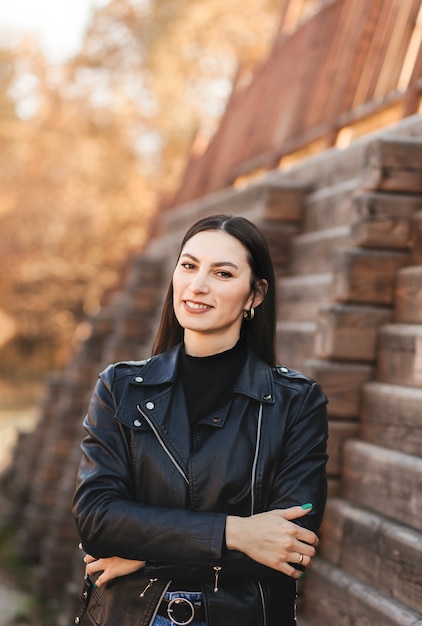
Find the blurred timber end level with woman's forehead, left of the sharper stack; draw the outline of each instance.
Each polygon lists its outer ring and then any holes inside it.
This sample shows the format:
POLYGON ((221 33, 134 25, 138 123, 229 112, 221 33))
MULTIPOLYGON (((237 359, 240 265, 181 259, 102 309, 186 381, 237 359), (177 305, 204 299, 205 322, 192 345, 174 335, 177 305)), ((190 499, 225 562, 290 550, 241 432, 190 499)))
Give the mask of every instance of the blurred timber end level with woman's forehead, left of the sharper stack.
POLYGON ((291 274, 323 274, 333 270, 335 252, 350 244, 350 226, 298 235, 292 241, 291 274))

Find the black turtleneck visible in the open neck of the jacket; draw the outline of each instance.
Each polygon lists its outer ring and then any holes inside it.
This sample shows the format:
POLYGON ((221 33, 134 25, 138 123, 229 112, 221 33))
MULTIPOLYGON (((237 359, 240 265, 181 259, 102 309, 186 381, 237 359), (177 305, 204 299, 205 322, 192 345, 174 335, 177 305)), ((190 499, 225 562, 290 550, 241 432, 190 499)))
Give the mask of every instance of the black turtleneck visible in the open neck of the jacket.
POLYGON ((231 398, 246 352, 244 340, 211 356, 195 357, 182 351, 180 379, 192 427, 231 398))

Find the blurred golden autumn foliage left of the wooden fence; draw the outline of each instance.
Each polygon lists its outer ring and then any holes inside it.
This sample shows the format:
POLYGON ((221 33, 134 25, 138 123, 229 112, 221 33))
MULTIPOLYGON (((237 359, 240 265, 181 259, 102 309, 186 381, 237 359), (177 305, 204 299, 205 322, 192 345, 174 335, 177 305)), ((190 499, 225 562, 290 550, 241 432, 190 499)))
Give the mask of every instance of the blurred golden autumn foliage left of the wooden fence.
POLYGON ((32 41, 0 51, 3 375, 65 363, 76 325, 144 245, 194 135, 213 132, 238 63, 246 75, 262 58, 279 10, 112 0, 62 66, 32 41))

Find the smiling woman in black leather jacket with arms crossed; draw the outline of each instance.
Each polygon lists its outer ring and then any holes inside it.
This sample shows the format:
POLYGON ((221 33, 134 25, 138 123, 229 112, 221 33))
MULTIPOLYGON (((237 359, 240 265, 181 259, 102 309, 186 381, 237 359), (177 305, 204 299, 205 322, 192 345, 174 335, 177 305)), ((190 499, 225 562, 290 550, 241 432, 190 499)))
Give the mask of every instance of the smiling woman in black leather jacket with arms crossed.
POLYGON ((292 626, 326 500, 326 397, 275 366, 260 231, 186 233, 154 356, 101 375, 73 511, 92 623, 292 626))

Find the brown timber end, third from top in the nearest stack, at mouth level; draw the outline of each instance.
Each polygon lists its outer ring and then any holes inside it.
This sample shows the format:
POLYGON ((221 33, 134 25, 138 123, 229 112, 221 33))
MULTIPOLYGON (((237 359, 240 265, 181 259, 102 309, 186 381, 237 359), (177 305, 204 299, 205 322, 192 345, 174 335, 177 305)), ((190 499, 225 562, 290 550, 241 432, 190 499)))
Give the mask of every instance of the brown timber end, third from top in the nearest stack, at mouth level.
POLYGON ((333 259, 332 299, 337 302, 392 304, 399 269, 408 262, 404 252, 342 248, 333 259))

